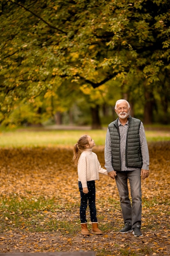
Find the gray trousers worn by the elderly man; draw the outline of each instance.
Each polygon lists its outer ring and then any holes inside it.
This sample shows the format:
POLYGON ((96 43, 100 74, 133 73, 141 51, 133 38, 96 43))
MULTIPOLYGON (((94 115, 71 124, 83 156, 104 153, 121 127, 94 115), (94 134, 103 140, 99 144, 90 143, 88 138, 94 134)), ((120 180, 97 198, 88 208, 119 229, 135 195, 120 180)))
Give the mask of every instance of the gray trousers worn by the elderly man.
POLYGON ((116 184, 119 191, 124 223, 130 222, 132 229, 137 225, 141 227, 141 169, 117 173, 116 184), (129 198, 128 180, 132 204, 129 198))

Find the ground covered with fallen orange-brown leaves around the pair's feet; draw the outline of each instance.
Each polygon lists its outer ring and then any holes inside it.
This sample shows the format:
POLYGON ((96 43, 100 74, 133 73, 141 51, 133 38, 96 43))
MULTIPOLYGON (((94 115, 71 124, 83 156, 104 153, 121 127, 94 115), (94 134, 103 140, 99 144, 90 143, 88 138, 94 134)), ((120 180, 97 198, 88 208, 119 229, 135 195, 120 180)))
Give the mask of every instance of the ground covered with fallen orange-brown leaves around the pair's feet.
MULTIPOLYGON (((94 151, 104 166, 104 147, 94 151)), ((119 196, 115 181, 105 175, 96 182, 97 217, 104 234, 82 236, 72 148, 1 149, 0 253, 170 255, 170 141, 149 144, 149 152, 150 176, 142 181, 144 236, 119 233, 119 196)))

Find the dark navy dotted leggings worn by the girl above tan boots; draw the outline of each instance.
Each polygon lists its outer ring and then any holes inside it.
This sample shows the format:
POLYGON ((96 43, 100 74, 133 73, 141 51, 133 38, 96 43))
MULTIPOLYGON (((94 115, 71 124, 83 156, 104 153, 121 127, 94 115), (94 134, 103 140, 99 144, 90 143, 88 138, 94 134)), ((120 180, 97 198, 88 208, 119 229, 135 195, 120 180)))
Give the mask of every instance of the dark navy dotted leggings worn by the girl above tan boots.
POLYGON ((83 193, 82 183, 79 181, 79 191, 80 191, 80 221, 81 223, 86 223, 86 209, 87 204, 90 208, 90 216, 91 222, 97 222, 96 217, 96 206, 95 206, 95 195, 96 195, 96 188, 95 188, 95 180, 87 182, 88 193, 83 193))

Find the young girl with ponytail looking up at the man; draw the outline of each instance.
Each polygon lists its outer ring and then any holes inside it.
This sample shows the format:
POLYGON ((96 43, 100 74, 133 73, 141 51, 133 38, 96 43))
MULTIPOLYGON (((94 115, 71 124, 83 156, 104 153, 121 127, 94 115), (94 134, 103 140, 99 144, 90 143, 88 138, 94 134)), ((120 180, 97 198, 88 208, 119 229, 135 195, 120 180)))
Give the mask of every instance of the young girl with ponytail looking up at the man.
POLYGON ((79 191, 80 191, 80 221, 82 235, 90 235, 87 228, 86 209, 90 208, 93 234, 102 234, 98 228, 95 206, 95 180, 99 180, 99 173, 108 175, 99 163, 97 155, 92 152, 95 141, 88 135, 84 135, 74 145, 73 162, 77 165, 79 191))

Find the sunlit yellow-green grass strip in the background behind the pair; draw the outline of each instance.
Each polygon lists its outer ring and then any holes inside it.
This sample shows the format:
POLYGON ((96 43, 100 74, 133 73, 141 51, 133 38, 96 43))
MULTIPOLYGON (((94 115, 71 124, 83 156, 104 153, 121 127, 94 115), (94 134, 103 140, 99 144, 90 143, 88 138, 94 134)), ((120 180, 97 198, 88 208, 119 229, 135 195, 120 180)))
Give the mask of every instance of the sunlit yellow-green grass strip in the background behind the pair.
MULTIPOLYGON (((90 135, 97 146, 104 146, 106 138, 105 130, 15 130, 0 134, 0 147, 53 147, 73 146, 79 137, 90 135)), ((148 141, 170 141, 168 130, 146 130, 148 141)))

